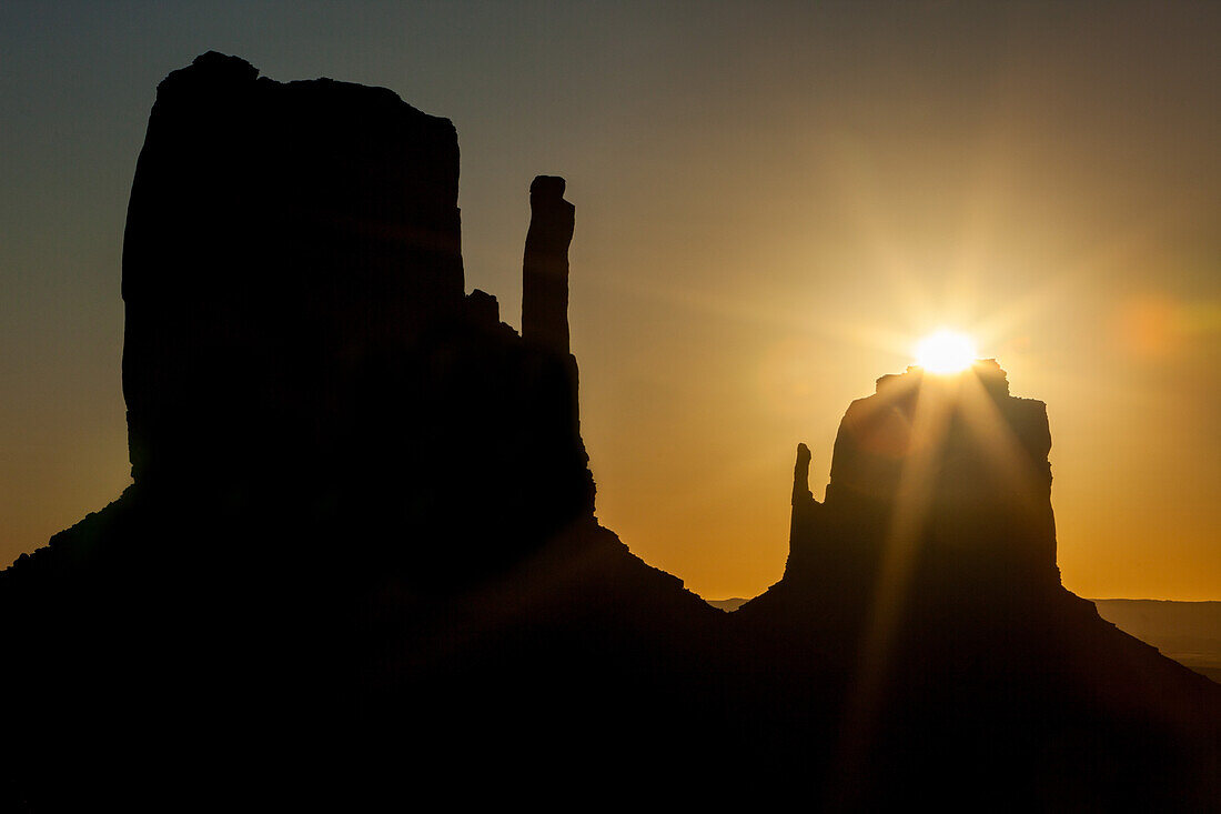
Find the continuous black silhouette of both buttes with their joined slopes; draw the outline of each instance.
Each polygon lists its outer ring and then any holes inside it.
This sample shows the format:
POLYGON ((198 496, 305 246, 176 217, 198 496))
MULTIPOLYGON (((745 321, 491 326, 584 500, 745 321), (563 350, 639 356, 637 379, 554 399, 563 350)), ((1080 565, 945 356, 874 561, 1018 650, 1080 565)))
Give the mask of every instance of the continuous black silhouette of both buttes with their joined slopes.
POLYGON ((723 614, 593 516, 563 180, 519 336, 463 293, 457 178, 386 89, 219 54, 161 83, 134 483, 0 572, 0 807, 1215 802, 1219 688, 1060 587, 1046 413, 995 363, 880 379, 823 504, 799 446, 785 576, 723 614))

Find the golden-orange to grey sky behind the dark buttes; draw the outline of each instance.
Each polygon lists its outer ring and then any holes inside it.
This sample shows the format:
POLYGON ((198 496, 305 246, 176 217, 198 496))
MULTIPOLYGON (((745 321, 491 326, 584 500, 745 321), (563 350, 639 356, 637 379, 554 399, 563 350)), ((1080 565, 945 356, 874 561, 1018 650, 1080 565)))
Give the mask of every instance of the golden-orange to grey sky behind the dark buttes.
POLYGON ((821 499, 849 402, 950 326, 1048 403, 1065 585, 1219 600, 1219 42, 1215 2, 9 0, 0 561, 129 483, 127 198, 217 50, 451 119, 514 326, 530 180, 568 180, 597 516, 696 593, 780 578, 797 442, 821 499))

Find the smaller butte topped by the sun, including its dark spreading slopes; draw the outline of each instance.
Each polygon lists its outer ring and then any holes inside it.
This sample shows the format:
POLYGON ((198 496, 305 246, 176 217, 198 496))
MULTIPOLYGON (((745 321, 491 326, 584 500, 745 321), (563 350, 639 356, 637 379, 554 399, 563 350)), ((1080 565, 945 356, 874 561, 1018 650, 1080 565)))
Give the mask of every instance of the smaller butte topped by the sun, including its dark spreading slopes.
POLYGON ((799 446, 784 578, 731 618, 755 697, 780 699, 755 709, 769 728, 817 688, 797 717, 828 733, 829 808, 932 793, 943 763, 1017 809, 1216 793, 1215 688, 1060 585, 1050 447, 1045 406, 1010 396, 993 359, 879 379, 840 423, 822 504, 799 446))

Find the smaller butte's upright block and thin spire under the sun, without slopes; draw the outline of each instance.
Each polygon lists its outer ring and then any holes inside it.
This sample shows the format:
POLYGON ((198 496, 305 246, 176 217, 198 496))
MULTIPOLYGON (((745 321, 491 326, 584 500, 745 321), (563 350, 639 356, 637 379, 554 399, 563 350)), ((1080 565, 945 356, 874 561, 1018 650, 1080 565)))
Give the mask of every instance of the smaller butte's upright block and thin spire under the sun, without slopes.
POLYGON ((825 504, 794 484, 786 579, 861 595, 901 534, 916 583, 955 601, 1057 588, 1050 449, 1045 405, 1011 396, 994 359, 883 376, 840 423, 825 504))

